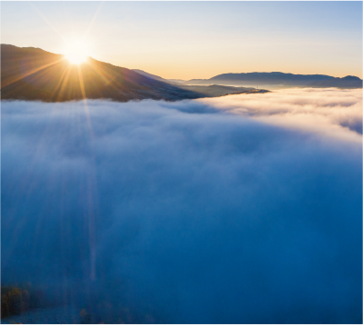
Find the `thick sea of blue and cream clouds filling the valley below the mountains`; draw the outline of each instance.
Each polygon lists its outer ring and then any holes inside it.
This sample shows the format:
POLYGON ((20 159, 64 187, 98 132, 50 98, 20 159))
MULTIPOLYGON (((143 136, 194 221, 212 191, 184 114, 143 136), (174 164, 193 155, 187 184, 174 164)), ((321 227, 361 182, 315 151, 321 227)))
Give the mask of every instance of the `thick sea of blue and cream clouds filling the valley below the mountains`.
POLYGON ((361 90, 0 102, 0 281, 98 281, 177 325, 358 324, 361 133, 361 90))

